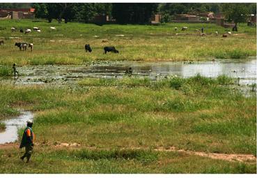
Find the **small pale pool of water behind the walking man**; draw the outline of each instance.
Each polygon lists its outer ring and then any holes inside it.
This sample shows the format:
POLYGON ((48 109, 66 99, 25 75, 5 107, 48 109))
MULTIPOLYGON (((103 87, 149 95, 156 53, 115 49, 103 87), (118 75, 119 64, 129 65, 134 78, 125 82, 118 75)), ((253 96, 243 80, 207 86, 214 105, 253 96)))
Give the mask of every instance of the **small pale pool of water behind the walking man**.
POLYGON ((26 126, 26 121, 29 119, 33 119, 32 112, 22 111, 20 116, 3 121, 6 130, 0 133, 0 144, 15 142, 18 139, 18 129, 26 126))

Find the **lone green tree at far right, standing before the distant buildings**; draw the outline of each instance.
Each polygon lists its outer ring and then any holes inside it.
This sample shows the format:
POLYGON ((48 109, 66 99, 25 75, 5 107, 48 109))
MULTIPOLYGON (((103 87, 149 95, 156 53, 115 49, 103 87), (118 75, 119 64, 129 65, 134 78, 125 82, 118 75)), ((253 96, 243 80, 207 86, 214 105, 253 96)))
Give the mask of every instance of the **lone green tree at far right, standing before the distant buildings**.
POLYGON ((237 31, 237 24, 246 22, 247 20, 247 7, 244 3, 224 3, 222 10, 228 22, 234 22, 235 26, 233 31, 237 31))

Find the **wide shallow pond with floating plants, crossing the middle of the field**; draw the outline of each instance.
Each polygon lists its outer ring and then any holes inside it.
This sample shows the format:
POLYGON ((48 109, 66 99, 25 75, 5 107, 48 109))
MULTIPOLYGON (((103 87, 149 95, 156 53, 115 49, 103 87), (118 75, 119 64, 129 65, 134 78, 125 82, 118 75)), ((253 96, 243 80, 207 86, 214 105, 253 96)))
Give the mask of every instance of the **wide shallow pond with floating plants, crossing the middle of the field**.
MULTIPOLYGON (((254 57, 256 58, 256 57, 254 57)), ((65 84, 84 77, 123 77, 125 70, 132 67, 133 75, 150 77, 155 80, 170 75, 192 77, 197 73, 205 77, 228 75, 239 78, 240 84, 256 83, 256 59, 227 59, 222 61, 118 61, 102 64, 79 66, 24 66, 17 70, 24 76, 16 80, 9 78, 14 84, 65 84)))

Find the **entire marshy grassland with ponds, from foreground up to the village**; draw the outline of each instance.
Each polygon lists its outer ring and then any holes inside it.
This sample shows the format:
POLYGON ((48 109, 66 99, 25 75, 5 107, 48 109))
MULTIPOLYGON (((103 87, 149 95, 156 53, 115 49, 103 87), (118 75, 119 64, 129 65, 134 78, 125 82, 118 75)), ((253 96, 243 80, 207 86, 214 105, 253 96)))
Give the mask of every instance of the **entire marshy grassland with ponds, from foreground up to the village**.
POLYGON ((0 172, 256 173, 256 28, 173 31, 183 25, 1 20, 0 126, 33 113, 36 146, 24 168, 18 143, 0 144, 0 172), (33 26, 42 32, 10 31, 33 26), (102 54, 105 45, 120 53, 102 54))

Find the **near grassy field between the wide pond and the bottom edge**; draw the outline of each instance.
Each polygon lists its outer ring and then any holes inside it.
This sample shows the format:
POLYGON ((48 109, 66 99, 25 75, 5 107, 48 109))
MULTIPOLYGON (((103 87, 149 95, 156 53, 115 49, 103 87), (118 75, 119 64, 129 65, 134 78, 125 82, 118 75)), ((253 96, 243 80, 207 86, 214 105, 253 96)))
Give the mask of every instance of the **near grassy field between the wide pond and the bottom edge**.
POLYGON ((83 79, 72 88, 0 84, 0 118, 21 107, 35 112, 37 143, 26 168, 17 149, 0 149, 0 172, 256 173, 255 162, 154 150, 256 156, 256 94, 245 97, 231 84, 224 75, 83 79))

